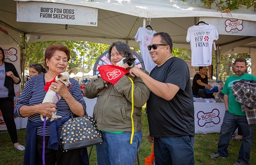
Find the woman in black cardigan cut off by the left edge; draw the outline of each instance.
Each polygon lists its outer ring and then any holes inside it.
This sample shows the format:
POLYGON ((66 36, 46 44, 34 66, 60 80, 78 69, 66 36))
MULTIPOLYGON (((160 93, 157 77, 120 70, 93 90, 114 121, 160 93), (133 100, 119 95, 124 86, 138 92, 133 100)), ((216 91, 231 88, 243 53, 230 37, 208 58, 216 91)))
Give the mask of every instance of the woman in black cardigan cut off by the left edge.
POLYGON ((21 78, 15 66, 5 62, 4 50, 0 47, 0 110, 5 121, 7 131, 15 148, 23 151, 25 147, 18 142, 16 124, 13 113, 14 84, 19 84, 21 78))

